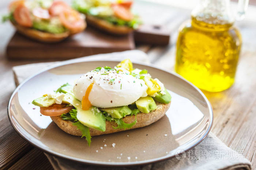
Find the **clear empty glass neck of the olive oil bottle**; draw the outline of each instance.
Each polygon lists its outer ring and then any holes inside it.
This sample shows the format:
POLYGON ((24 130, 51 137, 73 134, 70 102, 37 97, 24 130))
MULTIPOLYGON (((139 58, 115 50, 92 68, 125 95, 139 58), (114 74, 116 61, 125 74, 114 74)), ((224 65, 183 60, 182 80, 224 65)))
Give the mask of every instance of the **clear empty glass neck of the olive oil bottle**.
POLYGON ((230 0, 200 0, 191 13, 192 20, 210 25, 232 25, 234 18, 230 12, 230 0))

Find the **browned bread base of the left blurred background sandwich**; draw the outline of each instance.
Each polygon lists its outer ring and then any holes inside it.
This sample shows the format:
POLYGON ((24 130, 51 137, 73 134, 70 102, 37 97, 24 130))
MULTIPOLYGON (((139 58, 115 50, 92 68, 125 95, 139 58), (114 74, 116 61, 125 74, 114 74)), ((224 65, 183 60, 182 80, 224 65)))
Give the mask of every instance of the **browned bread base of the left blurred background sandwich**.
POLYGON ((62 41, 65 38, 67 38, 69 35, 71 35, 69 31, 54 34, 49 32, 38 31, 33 28, 23 27, 14 22, 11 22, 11 23, 12 25, 14 25, 14 27, 17 29, 19 33, 41 42, 55 43, 55 42, 62 41))

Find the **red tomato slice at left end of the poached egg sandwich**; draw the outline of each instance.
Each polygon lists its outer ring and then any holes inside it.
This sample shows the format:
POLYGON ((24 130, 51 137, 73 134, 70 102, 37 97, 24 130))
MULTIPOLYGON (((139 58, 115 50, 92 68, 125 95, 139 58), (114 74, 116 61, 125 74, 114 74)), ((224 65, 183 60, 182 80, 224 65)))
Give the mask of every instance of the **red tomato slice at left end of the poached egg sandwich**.
POLYGON ((74 108, 73 106, 67 106, 67 104, 53 104, 49 107, 40 107, 40 112, 45 116, 60 116, 62 114, 68 113, 74 108))

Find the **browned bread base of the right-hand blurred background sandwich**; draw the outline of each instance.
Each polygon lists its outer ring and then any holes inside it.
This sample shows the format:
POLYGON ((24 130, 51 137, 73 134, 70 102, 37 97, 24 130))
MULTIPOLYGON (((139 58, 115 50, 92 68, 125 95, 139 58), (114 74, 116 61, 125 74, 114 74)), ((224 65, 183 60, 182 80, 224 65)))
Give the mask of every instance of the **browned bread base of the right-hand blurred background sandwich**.
POLYGON ((133 29, 127 26, 119 26, 109 23, 103 19, 99 19, 95 16, 86 15, 86 22, 93 27, 101 29, 102 31, 111 33, 113 35, 127 35, 132 32, 133 29))

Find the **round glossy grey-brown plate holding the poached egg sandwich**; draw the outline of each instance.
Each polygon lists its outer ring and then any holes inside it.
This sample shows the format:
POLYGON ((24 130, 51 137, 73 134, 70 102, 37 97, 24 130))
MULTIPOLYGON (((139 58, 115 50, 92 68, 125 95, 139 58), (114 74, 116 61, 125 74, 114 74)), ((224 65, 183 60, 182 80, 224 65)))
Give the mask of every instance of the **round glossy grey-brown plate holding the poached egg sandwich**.
POLYGON ((90 147, 84 138, 65 133, 50 117, 41 115, 39 107, 31 104, 33 99, 64 83, 74 84, 87 71, 99 66, 114 67, 117 63, 65 62, 30 77, 11 96, 8 116, 12 126, 23 138, 47 153, 94 165, 141 165, 161 161, 174 157, 181 150, 191 149, 207 136, 213 115, 204 94, 176 74, 149 65, 133 66, 148 70, 170 90, 172 103, 166 115, 143 128, 93 137, 90 147))

